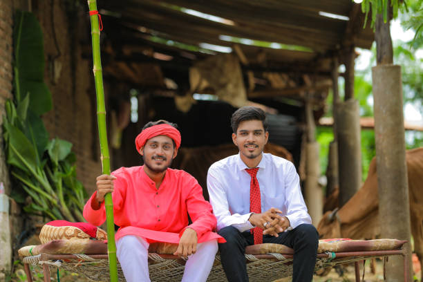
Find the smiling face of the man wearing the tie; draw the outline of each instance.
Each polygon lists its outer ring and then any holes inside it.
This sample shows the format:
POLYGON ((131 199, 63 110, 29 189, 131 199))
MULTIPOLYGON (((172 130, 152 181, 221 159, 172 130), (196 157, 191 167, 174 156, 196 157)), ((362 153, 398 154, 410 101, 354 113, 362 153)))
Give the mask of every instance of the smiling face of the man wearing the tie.
POLYGON ((256 167, 261 161, 261 153, 269 138, 261 120, 245 120, 240 122, 236 134, 232 133, 232 141, 238 146, 241 159, 248 167, 256 167))

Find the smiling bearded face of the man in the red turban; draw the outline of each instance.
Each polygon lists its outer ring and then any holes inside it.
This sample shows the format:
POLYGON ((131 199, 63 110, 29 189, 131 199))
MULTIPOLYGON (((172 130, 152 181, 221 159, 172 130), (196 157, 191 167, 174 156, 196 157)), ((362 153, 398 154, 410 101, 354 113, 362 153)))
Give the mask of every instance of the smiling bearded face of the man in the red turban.
POLYGON ((150 138, 140 149, 144 160, 144 170, 147 174, 157 174, 166 171, 170 167, 178 149, 173 147, 173 141, 166 135, 158 135, 150 138))

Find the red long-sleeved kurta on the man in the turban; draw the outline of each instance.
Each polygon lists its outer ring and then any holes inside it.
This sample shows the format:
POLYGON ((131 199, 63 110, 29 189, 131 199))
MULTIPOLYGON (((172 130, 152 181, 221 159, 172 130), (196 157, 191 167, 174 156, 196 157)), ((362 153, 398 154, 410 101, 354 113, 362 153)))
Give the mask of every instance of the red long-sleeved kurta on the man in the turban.
MULTIPOLYGON (((159 189, 147 176, 143 167, 122 167, 113 171, 113 210, 115 224, 120 226, 115 239, 136 235, 147 238, 149 243, 179 243, 185 228, 197 232, 198 243, 225 239, 212 232, 216 228, 216 217, 212 205, 203 198, 203 190, 196 178, 178 169, 167 169, 159 189), (192 224, 188 225, 188 216, 192 224)), ((84 218, 93 225, 102 225, 106 220, 104 202, 100 209, 93 209, 91 196, 84 207, 84 218)))

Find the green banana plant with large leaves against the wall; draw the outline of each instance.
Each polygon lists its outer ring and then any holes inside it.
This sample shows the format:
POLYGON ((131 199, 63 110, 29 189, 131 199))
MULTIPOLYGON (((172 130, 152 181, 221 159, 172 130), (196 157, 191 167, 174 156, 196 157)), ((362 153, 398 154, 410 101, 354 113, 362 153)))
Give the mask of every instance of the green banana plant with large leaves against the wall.
POLYGON ((84 221, 86 191, 76 179, 72 144, 48 132, 41 114, 52 100, 44 83, 41 27, 30 12, 17 11, 14 30, 15 100, 6 101, 3 118, 6 162, 14 185, 11 196, 31 214, 51 219, 84 221))

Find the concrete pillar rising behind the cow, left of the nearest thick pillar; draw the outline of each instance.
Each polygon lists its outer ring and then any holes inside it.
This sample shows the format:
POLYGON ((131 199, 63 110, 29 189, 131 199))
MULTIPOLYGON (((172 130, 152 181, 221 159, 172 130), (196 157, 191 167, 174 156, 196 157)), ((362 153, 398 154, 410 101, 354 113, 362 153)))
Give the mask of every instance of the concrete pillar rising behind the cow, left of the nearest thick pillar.
POLYGON ((337 104, 339 154, 339 207, 361 187, 359 104, 350 99, 337 104))

